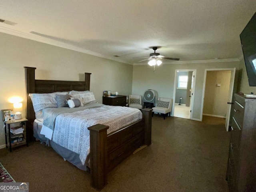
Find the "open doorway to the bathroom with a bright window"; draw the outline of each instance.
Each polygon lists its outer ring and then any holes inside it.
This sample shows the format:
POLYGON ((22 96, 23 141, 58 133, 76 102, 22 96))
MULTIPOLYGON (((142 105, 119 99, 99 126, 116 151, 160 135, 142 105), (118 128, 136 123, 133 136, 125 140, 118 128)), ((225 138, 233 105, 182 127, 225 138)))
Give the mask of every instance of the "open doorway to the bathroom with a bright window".
POLYGON ((196 69, 175 70, 172 115, 192 119, 196 69))

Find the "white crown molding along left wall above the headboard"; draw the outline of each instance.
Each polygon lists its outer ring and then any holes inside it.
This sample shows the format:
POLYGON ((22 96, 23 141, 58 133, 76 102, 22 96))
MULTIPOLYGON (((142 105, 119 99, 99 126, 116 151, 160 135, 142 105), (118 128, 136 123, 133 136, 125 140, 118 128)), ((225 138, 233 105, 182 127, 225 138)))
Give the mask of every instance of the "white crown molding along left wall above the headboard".
POLYGON ((86 53, 86 54, 89 54, 89 55, 93 55, 93 56, 97 56, 97 57, 101 57, 101 58, 105 58, 105 59, 109 59, 109 60, 114 60, 114 61, 121 62, 121 63, 130 64, 126 61, 123 61, 123 60, 120 60, 120 59, 117 59, 117 58, 104 56, 102 54, 92 52, 92 51, 89 51, 89 50, 86 50, 86 49, 83 49, 83 48, 79 48, 79 47, 76 47, 76 46, 72 46, 72 45, 69 45, 69 44, 66 44, 66 43, 62 43, 62 42, 59 42, 59 41, 56 41, 56 40, 44 38, 44 37, 37 36, 37 35, 34 35, 34 34, 28 34, 28 33, 20 32, 20 31, 16 31, 16 30, 5 28, 5 27, 2 27, 2 26, 0 26, 0 32, 6 33, 6 34, 9 34, 9 35, 22 37, 22 38, 25 38, 25 39, 34 40, 34 41, 41 42, 41 43, 50 44, 50 45, 61 47, 61 48, 66 48, 66 49, 81 52, 81 53, 86 53))

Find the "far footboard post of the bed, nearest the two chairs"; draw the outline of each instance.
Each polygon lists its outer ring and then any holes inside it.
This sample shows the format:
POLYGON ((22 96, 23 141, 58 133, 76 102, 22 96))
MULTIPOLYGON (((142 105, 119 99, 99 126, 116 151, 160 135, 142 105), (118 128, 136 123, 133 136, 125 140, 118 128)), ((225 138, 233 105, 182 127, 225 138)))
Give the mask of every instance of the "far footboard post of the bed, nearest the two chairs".
POLYGON ((145 122, 145 139, 144 143, 147 146, 151 145, 151 127, 152 127, 152 109, 144 108, 142 109, 142 117, 145 122))

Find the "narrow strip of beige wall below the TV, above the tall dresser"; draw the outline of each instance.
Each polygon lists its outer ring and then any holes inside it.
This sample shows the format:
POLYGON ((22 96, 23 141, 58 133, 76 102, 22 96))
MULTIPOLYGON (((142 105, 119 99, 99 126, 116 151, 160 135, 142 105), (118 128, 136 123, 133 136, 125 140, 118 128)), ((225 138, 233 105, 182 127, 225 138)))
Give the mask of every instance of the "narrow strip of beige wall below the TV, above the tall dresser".
POLYGON ((256 94, 256 87, 250 87, 248 82, 248 76, 246 73, 244 59, 240 61, 240 69, 242 70, 241 84, 240 84, 240 92, 250 94, 253 92, 256 94))

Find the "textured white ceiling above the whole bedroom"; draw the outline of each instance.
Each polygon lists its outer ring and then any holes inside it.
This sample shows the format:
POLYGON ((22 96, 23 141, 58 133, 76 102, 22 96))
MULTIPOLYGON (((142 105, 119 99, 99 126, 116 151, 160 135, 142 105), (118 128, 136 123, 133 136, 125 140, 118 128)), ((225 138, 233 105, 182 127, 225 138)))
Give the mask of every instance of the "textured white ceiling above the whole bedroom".
POLYGON ((256 0, 3 0, 0 18, 17 24, 0 32, 128 64, 152 46, 180 61, 230 59, 255 11, 256 0))

